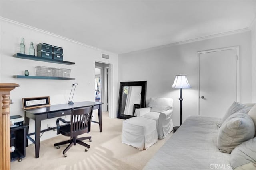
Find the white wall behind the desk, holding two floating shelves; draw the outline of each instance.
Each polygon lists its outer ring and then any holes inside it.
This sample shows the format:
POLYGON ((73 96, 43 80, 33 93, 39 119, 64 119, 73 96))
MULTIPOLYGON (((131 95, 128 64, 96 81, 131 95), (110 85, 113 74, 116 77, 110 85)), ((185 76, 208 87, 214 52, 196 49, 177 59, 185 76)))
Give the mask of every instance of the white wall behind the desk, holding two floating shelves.
MULTIPOLYGON (((50 102, 54 104, 63 104, 68 102, 70 90, 73 83, 78 83, 73 98, 74 102, 94 101, 94 61, 102 61, 112 64, 113 70, 113 91, 112 106, 117 103, 117 84, 118 84, 118 59, 114 53, 109 53, 94 47, 83 45, 69 39, 34 29, 26 25, 18 24, 1 18, 1 60, 0 60, 0 82, 17 83, 20 87, 11 92, 10 98, 14 104, 10 106, 10 115, 22 115, 22 98, 50 96, 50 102), (36 44, 44 42, 59 47, 63 47, 64 61, 75 62, 75 65, 63 65, 55 63, 46 63, 42 61, 33 61, 14 58, 13 55, 19 52, 21 37, 24 38, 26 45, 25 52, 28 54, 30 42, 36 44), (108 54, 109 59, 101 58, 101 53, 108 54), (35 66, 49 66, 57 68, 71 69, 72 78, 76 80, 44 80, 44 79, 18 79, 13 75, 24 75, 24 70, 29 70, 31 76, 35 76, 35 66)), ((112 107, 112 114, 116 115, 116 107, 112 107)), ((112 116, 112 117, 114 117, 112 116)), ((103 122, 104 124, 105 122, 103 122)), ((47 125, 56 126, 56 119, 42 121, 42 129, 47 125)), ((34 130, 34 121, 30 120, 30 132, 34 130)), ((103 129, 104 131, 104 129, 103 129)), ((41 140, 54 137, 56 131, 48 131, 42 135, 41 140)))

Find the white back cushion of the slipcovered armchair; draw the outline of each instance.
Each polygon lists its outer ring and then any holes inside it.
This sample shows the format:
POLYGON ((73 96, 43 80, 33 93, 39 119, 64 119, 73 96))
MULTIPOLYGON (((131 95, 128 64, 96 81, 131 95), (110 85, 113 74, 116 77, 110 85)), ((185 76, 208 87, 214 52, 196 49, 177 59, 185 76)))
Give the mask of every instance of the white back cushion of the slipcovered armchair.
POLYGON ((172 109, 173 99, 172 98, 150 98, 150 102, 148 106, 151 107, 151 111, 162 113, 166 110, 172 109))

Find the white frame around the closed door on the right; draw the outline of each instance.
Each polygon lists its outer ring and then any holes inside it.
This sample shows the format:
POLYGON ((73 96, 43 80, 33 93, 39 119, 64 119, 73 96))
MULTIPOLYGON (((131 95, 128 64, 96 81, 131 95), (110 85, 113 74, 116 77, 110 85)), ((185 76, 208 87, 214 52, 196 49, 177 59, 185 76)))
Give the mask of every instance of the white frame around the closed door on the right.
POLYGON ((240 56, 239 56, 239 46, 234 47, 226 47, 226 48, 220 48, 220 49, 210 49, 210 50, 204 50, 204 51, 198 51, 198 115, 200 115, 200 54, 203 53, 211 53, 216 51, 224 51, 224 50, 236 50, 236 102, 240 102, 240 56))

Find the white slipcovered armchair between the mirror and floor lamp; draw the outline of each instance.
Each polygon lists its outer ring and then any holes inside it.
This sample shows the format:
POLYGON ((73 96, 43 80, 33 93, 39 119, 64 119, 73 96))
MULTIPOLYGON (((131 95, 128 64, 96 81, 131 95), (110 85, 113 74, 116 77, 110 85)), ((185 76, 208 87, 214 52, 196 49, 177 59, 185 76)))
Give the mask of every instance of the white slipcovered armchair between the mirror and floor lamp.
POLYGON ((163 139, 172 131, 172 98, 150 98, 149 107, 135 110, 135 116, 156 121, 158 139, 163 139))

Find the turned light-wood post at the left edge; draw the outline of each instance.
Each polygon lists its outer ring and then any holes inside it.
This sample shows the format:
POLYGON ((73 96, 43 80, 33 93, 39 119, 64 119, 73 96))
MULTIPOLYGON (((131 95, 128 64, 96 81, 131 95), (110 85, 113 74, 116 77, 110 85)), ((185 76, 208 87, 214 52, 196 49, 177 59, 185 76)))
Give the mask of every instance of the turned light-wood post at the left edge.
POLYGON ((19 86, 0 83, 0 170, 10 170, 10 91, 19 86))

